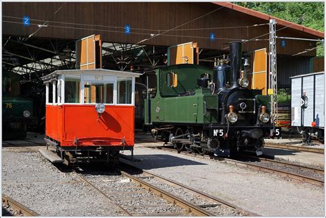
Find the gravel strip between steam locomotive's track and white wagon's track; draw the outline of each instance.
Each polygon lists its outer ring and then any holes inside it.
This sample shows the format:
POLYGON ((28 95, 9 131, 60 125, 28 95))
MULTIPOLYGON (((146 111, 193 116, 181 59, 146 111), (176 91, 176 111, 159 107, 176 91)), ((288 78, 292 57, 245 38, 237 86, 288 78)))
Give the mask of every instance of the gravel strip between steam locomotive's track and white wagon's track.
POLYGON ((311 167, 325 167, 325 154, 301 152, 290 149, 264 147, 263 154, 272 158, 302 163, 311 167))

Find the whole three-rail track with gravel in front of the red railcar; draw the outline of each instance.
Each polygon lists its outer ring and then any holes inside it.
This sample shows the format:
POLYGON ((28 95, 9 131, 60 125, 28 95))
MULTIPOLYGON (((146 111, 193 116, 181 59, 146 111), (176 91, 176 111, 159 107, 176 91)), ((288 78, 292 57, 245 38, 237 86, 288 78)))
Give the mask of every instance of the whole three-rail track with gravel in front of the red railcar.
POLYGON ((125 162, 121 162, 121 167, 113 177, 99 175, 100 178, 87 178, 85 172, 85 175, 78 171, 74 173, 107 197, 127 216, 258 216, 222 199, 127 165, 125 162), (136 175, 131 175, 135 172, 136 175), (106 188, 98 183, 100 180, 105 181, 106 188))

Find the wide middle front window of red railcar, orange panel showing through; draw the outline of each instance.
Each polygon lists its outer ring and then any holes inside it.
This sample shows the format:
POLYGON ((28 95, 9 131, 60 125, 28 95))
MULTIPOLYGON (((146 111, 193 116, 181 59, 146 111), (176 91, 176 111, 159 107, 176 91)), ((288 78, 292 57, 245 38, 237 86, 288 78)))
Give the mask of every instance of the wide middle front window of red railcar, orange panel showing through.
POLYGON ((113 83, 85 82, 84 103, 113 104, 113 83))

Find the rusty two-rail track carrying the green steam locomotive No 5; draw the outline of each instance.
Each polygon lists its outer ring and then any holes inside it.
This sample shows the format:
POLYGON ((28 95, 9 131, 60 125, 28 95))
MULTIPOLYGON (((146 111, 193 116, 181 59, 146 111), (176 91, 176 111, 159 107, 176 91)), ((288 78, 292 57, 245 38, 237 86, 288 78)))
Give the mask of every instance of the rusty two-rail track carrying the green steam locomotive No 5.
MULTIPOLYGON (((175 152, 177 153, 177 150, 175 149, 171 149, 171 148, 167 148, 167 147, 149 147, 149 148, 157 148, 157 149, 162 149, 165 151, 169 151, 169 152, 175 152)), ((225 161, 226 163, 232 164, 232 165, 236 165, 236 166, 240 166, 240 167, 246 167, 249 169, 255 169, 258 171, 263 171, 263 172, 267 172, 267 173, 274 173, 277 175, 282 175, 285 176, 287 178, 292 178, 295 180, 299 180, 302 182, 309 182, 312 184, 316 184, 318 186, 323 186, 324 185, 324 180, 321 178, 314 178, 311 176, 307 176, 307 175, 303 175, 303 173, 292 173, 291 170, 283 170, 283 169, 276 169, 277 167, 270 167, 270 166, 263 166, 263 165, 258 165, 257 163, 252 163, 252 162, 248 162, 248 161, 241 161, 241 160, 235 160, 232 158, 220 158, 220 157, 215 157, 215 156, 209 156, 209 155, 199 155, 199 154, 189 154, 188 152, 181 152, 180 154, 183 155, 187 155, 187 156, 195 156, 195 157, 199 157, 199 158, 206 158, 209 160, 222 160, 225 161)), ((250 157, 253 158, 253 157, 250 157)), ((254 157, 256 159, 259 159, 257 157, 254 157)), ((319 170, 319 169, 314 169, 314 168, 309 168, 309 167, 303 167, 300 165, 294 165, 294 164, 290 164, 287 162, 280 162, 280 161, 276 161, 276 160, 269 160, 268 158, 260 158, 259 159, 261 162, 267 162, 267 163, 273 163, 274 165, 283 165, 285 167, 289 167, 291 169, 292 168, 296 168, 296 169, 301 169, 303 171, 313 171, 314 173, 321 173, 323 175, 323 170, 319 170)), ((323 176, 320 176, 323 177, 323 176)))

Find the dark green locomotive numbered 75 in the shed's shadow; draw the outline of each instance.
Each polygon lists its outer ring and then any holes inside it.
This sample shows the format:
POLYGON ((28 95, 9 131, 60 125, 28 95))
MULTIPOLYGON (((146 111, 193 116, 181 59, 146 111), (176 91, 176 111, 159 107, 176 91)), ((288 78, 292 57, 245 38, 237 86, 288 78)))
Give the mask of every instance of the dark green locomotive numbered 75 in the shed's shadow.
POLYGON ((3 139, 25 138, 27 127, 37 124, 33 117, 33 101, 21 96, 19 75, 2 73, 2 131, 3 139))

